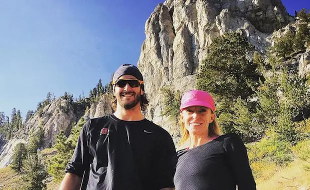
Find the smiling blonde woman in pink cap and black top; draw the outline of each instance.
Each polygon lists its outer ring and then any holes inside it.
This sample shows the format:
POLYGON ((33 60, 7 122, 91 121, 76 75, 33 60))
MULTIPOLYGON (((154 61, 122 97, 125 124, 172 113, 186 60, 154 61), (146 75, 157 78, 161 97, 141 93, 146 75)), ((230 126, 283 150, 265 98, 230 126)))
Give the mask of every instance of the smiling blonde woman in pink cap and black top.
POLYGON ((176 190, 256 189, 246 148, 236 134, 220 135, 209 93, 191 90, 182 96, 180 130, 176 190))

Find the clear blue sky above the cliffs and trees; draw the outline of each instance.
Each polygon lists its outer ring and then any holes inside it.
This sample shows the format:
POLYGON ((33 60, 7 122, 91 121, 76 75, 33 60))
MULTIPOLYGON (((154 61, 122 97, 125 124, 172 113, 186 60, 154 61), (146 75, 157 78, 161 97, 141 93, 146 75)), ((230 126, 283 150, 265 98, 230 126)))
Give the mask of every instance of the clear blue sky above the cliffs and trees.
MULTIPOLYGON (((1 0, 0 111, 24 117, 47 92, 88 95, 122 63, 135 64, 144 24, 163 0, 1 0)), ((282 0, 287 11, 309 0, 282 0)))

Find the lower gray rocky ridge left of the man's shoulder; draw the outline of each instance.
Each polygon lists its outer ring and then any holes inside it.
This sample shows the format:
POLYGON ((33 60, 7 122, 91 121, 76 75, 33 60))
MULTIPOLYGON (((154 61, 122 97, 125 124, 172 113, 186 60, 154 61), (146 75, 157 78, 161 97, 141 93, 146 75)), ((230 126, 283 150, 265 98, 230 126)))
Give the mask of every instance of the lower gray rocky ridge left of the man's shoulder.
POLYGON ((72 105, 63 98, 56 99, 46 105, 41 113, 36 112, 22 129, 16 132, 14 138, 4 141, 0 145, 0 168, 5 167, 12 161, 13 149, 19 142, 29 141, 30 131, 37 131, 41 125, 44 129, 44 146, 51 146, 55 141, 55 135, 62 129, 66 135, 71 127, 82 115, 76 115, 72 105))

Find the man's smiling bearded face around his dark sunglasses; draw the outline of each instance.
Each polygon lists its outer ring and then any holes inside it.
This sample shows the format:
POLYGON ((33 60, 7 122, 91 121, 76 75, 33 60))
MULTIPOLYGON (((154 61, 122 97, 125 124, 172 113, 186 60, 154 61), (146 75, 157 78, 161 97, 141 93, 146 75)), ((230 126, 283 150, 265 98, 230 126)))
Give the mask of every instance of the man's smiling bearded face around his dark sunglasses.
MULTIPOLYGON (((120 76, 116 81, 120 79, 136 80, 136 77, 125 74, 120 76)), ((144 91, 141 89, 140 85, 137 87, 131 87, 128 83, 126 83, 123 87, 119 87, 117 84, 114 85, 114 96, 116 97, 117 104, 125 109, 131 109, 137 104, 140 106, 141 95, 143 95, 143 93, 144 91)))

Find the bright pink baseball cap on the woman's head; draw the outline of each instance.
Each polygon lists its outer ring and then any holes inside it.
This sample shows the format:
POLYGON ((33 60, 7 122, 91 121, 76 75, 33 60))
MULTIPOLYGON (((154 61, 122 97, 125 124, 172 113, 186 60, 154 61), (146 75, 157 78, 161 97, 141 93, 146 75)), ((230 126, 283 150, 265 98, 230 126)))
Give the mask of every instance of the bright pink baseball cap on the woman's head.
POLYGON ((208 92, 202 90, 190 90, 182 96, 180 110, 190 106, 203 106, 215 111, 214 99, 208 92))

